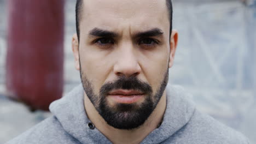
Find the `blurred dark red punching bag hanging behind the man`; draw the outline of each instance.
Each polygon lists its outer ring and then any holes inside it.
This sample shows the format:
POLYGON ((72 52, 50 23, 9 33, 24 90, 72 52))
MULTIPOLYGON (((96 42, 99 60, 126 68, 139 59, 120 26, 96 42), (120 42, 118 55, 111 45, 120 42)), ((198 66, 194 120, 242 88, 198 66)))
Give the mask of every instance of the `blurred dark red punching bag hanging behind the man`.
POLYGON ((48 110, 62 96, 65 0, 8 2, 8 96, 48 110))

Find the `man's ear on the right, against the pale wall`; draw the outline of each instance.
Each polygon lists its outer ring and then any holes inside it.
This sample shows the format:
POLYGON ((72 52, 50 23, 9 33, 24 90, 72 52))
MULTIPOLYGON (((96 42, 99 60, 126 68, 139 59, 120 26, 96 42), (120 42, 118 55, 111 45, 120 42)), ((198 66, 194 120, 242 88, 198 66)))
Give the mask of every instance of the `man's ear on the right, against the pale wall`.
POLYGON ((178 44, 178 31, 174 29, 174 30, 172 30, 171 39, 170 39, 169 68, 171 68, 173 65, 177 44, 178 44))

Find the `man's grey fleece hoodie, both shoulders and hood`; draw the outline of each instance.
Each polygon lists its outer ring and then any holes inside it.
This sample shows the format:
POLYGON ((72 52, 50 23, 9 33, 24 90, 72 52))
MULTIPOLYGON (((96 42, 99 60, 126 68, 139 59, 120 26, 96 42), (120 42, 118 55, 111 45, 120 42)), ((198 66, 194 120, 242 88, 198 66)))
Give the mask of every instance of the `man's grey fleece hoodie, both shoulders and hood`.
MULTIPOLYGON (((54 101, 45 119, 7 144, 111 143, 100 131, 90 129, 84 109, 82 85, 54 101)), ((179 87, 167 88, 167 107, 159 128, 141 143, 234 144, 249 143, 245 136, 195 109, 179 87)))

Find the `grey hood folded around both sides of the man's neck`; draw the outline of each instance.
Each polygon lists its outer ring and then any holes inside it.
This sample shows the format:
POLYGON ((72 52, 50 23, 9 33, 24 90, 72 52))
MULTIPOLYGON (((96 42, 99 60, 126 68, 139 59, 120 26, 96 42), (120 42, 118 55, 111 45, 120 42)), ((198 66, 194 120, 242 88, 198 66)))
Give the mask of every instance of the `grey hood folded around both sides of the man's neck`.
MULTIPOLYGON (((190 95, 179 86, 167 86, 167 106, 159 128, 150 133, 141 143, 161 143, 187 124, 193 116, 195 106, 190 95)), ((84 89, 75 87, 65 97, 54 101, 49 107, 63 129, 81 143, 111 143, 100 131, 90 129, 84 109, 84 89)))

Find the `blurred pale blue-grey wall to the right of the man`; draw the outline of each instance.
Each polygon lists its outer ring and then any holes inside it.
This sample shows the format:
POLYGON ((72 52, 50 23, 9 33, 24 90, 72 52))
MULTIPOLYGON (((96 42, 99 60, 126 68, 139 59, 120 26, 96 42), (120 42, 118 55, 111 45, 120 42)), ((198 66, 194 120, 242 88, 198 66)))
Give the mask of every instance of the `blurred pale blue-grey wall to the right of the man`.
POLYGON ((179 43, 172 84, 256 143, 255 1, 173 1, 179 43))

